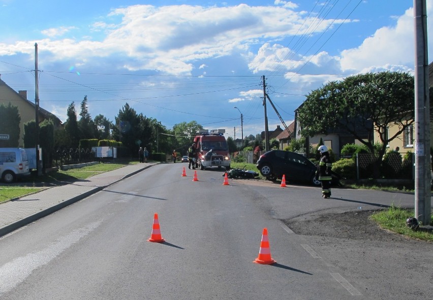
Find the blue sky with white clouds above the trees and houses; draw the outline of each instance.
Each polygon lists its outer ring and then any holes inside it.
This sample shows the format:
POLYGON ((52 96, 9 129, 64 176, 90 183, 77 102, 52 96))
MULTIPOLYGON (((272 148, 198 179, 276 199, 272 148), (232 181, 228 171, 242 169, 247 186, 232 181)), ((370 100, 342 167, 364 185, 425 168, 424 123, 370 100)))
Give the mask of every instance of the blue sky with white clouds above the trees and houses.
MULTIPOLYGON (((427 1, 429 61, 432 15, 427 1)), ((413 73, 413 17, 407 0, 0 0, 0 74, 34 100, 37 43, 40 105, 62 121, 87 95, 93 118, 129 103, 167 128, 195 120, 240 138, 239 110, 244 136, 264 130, 262 76, 289 125, 328 81, 413 73)))

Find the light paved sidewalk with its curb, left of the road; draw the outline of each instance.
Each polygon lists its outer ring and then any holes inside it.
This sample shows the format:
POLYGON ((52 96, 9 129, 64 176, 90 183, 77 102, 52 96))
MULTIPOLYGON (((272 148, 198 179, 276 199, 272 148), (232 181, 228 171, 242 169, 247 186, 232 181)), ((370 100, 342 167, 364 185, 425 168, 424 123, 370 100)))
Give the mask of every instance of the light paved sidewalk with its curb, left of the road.
POLYGON ((153 165, 155 163, 128 165, 71 184, 48 187, 41 192, 0 203, 0 237, 153 165))

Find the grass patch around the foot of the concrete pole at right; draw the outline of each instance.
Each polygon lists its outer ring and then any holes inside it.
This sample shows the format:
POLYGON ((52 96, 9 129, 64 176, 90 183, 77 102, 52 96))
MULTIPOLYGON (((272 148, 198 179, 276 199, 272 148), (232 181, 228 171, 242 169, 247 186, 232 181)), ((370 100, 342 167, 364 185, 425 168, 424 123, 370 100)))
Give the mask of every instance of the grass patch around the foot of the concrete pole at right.
MULTIPOLYGON (((374 213, 370 218, 379 224, 383 229, 411 237, 414 239, 433 242, 433 234, 422 231, 414 231, 406 226, 406 220, 413 217, 414 210, 403 209, 391 205, 387 210, 374 213)), ((430 224, 433 226, 433 215, 431 216, 430 224)))

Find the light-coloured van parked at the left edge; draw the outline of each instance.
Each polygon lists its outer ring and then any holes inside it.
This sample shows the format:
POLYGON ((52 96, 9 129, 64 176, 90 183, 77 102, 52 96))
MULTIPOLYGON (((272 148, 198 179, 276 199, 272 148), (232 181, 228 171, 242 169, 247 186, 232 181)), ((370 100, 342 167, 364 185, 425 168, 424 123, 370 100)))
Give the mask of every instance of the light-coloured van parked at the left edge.
POLYGON ((0 148, 0 174, 6 183, 30 175, 27 154, 23 148, 0 148))

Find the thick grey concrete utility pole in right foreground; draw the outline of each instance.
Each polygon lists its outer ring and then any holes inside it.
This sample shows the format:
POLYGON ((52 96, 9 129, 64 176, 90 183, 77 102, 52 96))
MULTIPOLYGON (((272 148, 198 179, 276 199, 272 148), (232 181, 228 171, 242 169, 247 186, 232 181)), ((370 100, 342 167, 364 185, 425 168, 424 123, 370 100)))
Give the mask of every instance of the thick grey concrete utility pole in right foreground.
POLYGON ((430 101, 428 94, 427 9, 414 0, 415 15, 415 217, 430 224, 430 101))

